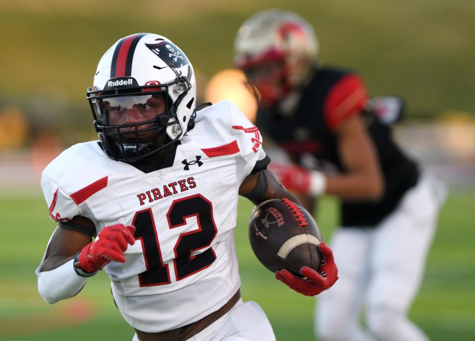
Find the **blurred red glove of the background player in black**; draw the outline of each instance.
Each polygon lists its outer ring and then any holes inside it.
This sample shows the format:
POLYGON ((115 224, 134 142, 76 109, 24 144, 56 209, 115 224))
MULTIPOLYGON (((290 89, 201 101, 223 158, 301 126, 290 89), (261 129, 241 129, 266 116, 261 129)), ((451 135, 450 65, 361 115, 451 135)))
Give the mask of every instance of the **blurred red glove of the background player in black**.
POLYGON ((293 164, 269 163, 267 169, 289 191, 307 194, 310 190, 311 172, 293 164))

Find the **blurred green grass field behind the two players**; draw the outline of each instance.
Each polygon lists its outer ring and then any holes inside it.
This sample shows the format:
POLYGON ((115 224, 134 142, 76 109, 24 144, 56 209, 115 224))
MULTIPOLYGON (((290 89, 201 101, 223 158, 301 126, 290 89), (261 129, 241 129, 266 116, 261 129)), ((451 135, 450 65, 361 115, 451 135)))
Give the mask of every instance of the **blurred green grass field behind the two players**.
MULTIPOLYGON (((34 270, 55 227, 41 196, 0 197, 0 340, 130 341, 132 329, 115 308, 104 273, 88 280, 76 297, 48 305, 37 292, 34 270)), ((475 195, 453 191, 441 213, 420 294, 410 316, 432 341, 475 340, 475 195)), ((273 278, 252 253, 247 219, 252 205, 240 202, 237 249, 245 300, 257 301, 277 340, 313 340, 314 299, 273 278)), ((323 236, 336 224, 336 203, 321 203, 323 236)))

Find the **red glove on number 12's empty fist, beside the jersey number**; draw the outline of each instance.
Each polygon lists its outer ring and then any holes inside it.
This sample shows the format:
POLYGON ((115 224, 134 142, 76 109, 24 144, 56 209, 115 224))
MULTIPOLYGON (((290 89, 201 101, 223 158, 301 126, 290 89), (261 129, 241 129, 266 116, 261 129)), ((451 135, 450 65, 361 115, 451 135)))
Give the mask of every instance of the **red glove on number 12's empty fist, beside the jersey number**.
POLYGON ((79 253, 78 266, 88 273, 103 269, 111 260, 124 263, 127 244, 135 244, 135 226, 116 224, 107 226, 94 242, 83 247, 79 253))

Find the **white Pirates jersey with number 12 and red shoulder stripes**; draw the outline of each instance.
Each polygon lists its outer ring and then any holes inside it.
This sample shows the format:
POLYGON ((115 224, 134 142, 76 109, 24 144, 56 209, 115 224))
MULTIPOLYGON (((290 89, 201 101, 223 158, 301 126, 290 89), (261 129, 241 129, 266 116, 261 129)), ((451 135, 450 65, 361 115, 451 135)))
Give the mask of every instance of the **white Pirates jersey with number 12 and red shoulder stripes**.
POLYGON ((232 232, 238 190, 264 158, 259 130, 221 101, 198 111, 171 167, 144 173, 86 142, 54 159, 41 186, 57 222, 86 216, 98 233, 135 225, 126 262, 112 261, 106 272, 125 320, 160 332, 209 315, 239 289, 232 232))

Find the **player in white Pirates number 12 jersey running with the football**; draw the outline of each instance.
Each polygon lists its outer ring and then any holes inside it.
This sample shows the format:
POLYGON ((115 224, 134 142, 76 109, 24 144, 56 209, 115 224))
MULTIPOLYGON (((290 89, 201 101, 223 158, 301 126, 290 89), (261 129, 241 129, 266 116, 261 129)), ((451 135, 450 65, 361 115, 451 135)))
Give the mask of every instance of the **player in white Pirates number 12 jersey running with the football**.
MULTIPOLYGON (((42 297, 72 297, 105 268, 133 340, 275 340, 262 309, 240 299, 232 231, 238 194, 297 201, 265 169, 258 128, 228 101, 195 108, 191 63, 155 34, 108 49, 87 97, 99 141, 66 149, 42 175, 58 222, 36 270, 42 297)), ((328 289, 337 270, 320 250, 318 271, 276 277, 307 295, 328 289)))

